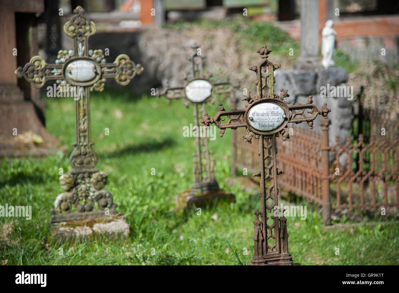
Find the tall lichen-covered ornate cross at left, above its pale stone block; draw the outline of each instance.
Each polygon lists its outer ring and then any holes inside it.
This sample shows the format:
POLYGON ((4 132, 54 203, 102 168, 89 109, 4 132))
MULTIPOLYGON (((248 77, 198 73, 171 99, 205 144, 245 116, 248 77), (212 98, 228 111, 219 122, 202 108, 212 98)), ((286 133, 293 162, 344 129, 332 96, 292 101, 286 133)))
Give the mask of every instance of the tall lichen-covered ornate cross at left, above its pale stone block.
POLYGON ((43 87, 49 80, 55 80, 64 93, 65 90, 68 92, 77 88, 74 90, 76 142, 69 157, 72 170, 61 175, 61 188, 65 193, 58 195, 54 202, 58 213, 70 213, 72 206, 77 213, 54 215, 53 221, 56 221, 55 218, 83 218, 83 212, 91 212, 91 216, 96 216, 96 213, 104 214, 105 208, 115 210, 111 193, 102 189, 107 182, 107 174, 95 168, 97 155, 90 137, 90 92, 102 91, 107 78, 127 85, 143 71, 143 67, 136 65, 127 55, 121 54, 113 63, 106 63, 103 50, 89 50, 88 39, 96 32, 96 26, 85 16, 81 6, 77 6, 73 12, 75 15, 64 26, 64 32, 73 39, 73 50, 58 51, 55 64, 47 64, 40 56, 34 56, 24 68, 18 67, 15 71, 18 77, 24 77, 36 88, 43 87), (95 203, 99 211, 94 210, 95 203))

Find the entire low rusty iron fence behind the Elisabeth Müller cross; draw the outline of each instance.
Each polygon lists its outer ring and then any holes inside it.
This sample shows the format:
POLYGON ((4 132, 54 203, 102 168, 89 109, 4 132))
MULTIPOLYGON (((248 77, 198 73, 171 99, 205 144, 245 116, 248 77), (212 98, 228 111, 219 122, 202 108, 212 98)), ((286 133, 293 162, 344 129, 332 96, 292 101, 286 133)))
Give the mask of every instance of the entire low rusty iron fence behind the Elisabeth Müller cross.
MULTIPOLYGON (((345 144, 337 138, 329 146, 328 124, 322 133, 293 127, 293 135, 277 141, 277 165, 284 174, 279 177, 280 189, 295 193, 323 207, 323 217, 335 210, 378 207, 399 208, 399 136, 379 133, 365 142, 359 134, 348 137, 345 144), (330 158, 334 160, 330 164, 330 158)), ((243 130, 233 134, 233 174, 247 168, 258 171, 257 145, 243 140, 243 130)))

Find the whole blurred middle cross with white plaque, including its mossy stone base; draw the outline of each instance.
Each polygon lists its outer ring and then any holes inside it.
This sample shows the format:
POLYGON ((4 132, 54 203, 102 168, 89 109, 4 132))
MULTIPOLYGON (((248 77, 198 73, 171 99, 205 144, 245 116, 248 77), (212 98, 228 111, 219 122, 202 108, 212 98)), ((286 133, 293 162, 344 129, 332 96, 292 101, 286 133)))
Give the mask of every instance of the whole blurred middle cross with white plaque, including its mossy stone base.
MULTIPOLYGON (((196 153, 193 159, 194 183, 190 190, 180 193, 176 199, 178 209, 190 208, 193 204, 203 206, 213 202, 215 199, 227 199, 234 201, 235 197, 219 188, 215 178, 215 159, 213 152, 209 150, 209 137, 200 135, 198 111, 205 112, 206 104, 211 102, 213 94, 232 94, 233 86, 229 81, 212 83, 203 74, 203 58, 198 54, 199 46, 192 45, 194 53, 191 56, 192 78, 186 80, 183 87, 166 87, 158 96, 165 96, 170 100, 184 99, 194 107, 194 124, 198 135, 196 135, 196 153)), ((194 128, 193 128, 194 129, 194 128)), ((194 133, 194 131, 193 131, 194 133)))

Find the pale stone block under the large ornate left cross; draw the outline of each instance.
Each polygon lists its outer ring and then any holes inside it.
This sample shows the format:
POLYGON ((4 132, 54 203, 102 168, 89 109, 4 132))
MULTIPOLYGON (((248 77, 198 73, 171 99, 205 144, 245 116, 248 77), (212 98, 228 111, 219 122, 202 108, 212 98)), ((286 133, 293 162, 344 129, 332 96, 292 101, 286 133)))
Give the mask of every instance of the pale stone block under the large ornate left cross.
POLYGON ((102 218, 88 218, 85 220, 59 222, 51 225, 51 233, 57 239, 74 242, 92 240, 96 236, 107 238, 126 238, 130 234, 130 227, 123 215, 111 215, 102 218))

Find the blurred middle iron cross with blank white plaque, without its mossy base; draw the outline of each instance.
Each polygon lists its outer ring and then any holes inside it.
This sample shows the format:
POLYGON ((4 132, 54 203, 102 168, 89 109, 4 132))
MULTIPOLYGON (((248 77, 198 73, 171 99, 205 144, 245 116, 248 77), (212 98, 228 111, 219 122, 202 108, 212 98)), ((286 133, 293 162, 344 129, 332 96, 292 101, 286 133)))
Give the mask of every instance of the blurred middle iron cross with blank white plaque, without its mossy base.
MULTIPOLYGON (((232 94, 233 86, 227 80, 224 82, 212 83, 203 74, 203 58, 198 54, 199 46, 193 45, 195 53, 191 55, 192 78, 186 79, 183 87, 167 87, 158 96, 165 96, 168 102, 173 99, 186 99, 187 106, 192 103, 194 106, 194 127, 198 130, 196 135, 196 153, 193 154, 193 175, 194 184, 190 193, 207 193, 219 189, 215 179, 215 159, 213 152, 209 150, 209 138, 204 134, 200 135, 198 111, 205 112, 206 103, 211 103, 212 94, 232 94), (199 110, 199 107, 201 109, 199 110)), ((194 128, 193 128, 194 130, 194 128)), ((204 129, 206 132, 206 129, 204 129)), ((194 131, 193 131, 194 132, 194 131)))

